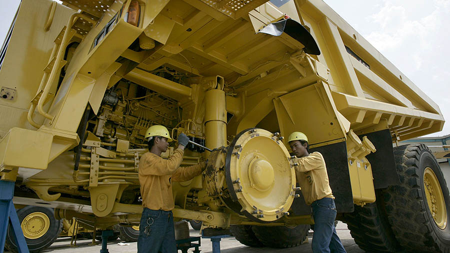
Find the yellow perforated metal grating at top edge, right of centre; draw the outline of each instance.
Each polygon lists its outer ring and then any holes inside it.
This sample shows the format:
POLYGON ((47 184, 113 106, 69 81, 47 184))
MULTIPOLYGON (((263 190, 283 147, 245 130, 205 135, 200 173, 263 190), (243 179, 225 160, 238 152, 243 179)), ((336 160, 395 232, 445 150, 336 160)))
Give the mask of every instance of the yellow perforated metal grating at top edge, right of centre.
POLYGON ((268 0, 201 0, 207 5, 234 19, 248 14, 268 0))

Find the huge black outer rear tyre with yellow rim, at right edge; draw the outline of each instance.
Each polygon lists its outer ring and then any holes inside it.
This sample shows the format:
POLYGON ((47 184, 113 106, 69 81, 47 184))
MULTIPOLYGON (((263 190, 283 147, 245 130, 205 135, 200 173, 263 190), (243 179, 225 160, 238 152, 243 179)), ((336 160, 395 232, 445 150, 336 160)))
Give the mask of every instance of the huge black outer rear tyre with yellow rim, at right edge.
POLYGON ((450 252, 450 196, 440 167, 423 144, 394 149, 400 185, 384 190, 385 209, 407 251, 450 252))

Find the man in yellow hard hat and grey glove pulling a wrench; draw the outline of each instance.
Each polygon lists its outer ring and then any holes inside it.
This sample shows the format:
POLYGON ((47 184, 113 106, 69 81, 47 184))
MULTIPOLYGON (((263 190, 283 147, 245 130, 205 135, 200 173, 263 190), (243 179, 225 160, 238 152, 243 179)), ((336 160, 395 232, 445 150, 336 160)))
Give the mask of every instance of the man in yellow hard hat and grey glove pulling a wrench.
POLYGON ((145 140, 148 151, 139 160, 139 184, 142 197, 138 253, 176 253, 172 209, 175 204, 172 182, 182 182, 201 174, 206 162, 189 167, 179 167, 183 160, 184 147, 189 138, 178 136, 178 148, 168 159, 163 159, 172 141, 164 126, 154 125, 147 129, 145 140))

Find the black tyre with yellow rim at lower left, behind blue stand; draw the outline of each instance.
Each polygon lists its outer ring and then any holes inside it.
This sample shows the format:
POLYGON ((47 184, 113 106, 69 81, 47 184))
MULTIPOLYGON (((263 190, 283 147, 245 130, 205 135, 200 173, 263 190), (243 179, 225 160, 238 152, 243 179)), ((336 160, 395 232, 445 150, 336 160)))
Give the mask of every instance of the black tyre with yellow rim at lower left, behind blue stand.
MULTIPOLYGON (((17 217, 30 253, 41 252, 50 247, 62 230, 62 222, 54 218, 51 208, 27 206, 17 210, 17 217)), ((10 226, 4 246, 10 252, 18 252, 10 226)))

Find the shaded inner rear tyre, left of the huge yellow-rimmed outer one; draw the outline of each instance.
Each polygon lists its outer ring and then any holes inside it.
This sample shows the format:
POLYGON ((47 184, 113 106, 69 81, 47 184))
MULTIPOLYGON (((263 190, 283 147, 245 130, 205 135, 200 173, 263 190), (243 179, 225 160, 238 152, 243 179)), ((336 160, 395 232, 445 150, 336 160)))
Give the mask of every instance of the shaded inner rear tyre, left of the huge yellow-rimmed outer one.
MULTIPOLYGON (((378 196, 377 196, 378 197, 378 196)), ((399 245, 392 233, 382 202, 354 206, 353 213, 343 214, 350 235, 365 252, 398 252, 399 245)))

